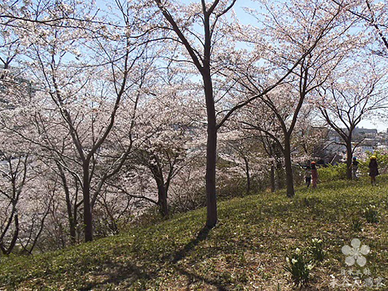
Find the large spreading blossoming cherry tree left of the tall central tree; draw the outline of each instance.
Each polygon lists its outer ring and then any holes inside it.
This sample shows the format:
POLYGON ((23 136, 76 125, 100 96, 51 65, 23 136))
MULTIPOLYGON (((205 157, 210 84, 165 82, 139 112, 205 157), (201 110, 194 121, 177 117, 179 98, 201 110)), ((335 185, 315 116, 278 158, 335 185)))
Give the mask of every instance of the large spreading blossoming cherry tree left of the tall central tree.
MULTIPOLYGON (((149 56, 144 57, 146 46, 139 47, 139 39, 131 38, 130 33, 137 33, 137 29, 133 11, 128 7, 118 2, 115 17, 120 17, 122 26, 107 28, 102 21, 90 21, 90 17, 85 15, 87 12, 78 10, 82 7, 78 7, 77 3, 73 4, 47 3, 42 8, 46 10, 39 11, 31 4, 31 7, 25 7, 30 9, 26 16, 7 16, 7 27, 14 28, 12 33, 19 39, 23 38, 24 63, 31 68, 31 75, 38 76, 42 81, 36 82, 38 90, 32 99, 14 102, 24 107, 23 114, 15 118, 25 126, 15 128, 12 120, 4 126, 50 151, 51 157, 56 156, 56 162, 61 164, 62 169, 78 179, 83 196, 85 240, 90 241, 92 208, 97 196, 105 181, 120 171, 132 149, 133 114, 147 72, 146 62, 141 68, 137 62, 149 56), (28 34, 31 30, 34 33, 28 34), (94 32, 96 37, 91 38, 90 32, 94 32), (36 35, 39 37, 36 38, 36 35), (28 108, 28 102, 35 103, 28 108), (129 122, 118 117, 127 114, 119 109, 121 104, 130 106, 128 111, 132 111, 132 118, 129 122), (22 116, 26 118, 25 122, 22 116), (123 152, 105 159, 110 165, 100 175, 95 175, 101 153, 107 151, 108 136, 116 119, 126 123, 126 136, 121 142, 123 152), (31 129, 35 136, 31 137, 31 132, 28 132, 31 129), (66 145, 65 151, 61 149, 62 144, 66 145), (70 161, 77 170, 68 167, 70 161)), ((89 6, 87 11, 91 10, 89 6)))

